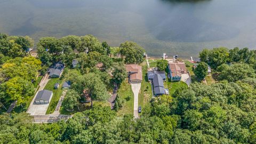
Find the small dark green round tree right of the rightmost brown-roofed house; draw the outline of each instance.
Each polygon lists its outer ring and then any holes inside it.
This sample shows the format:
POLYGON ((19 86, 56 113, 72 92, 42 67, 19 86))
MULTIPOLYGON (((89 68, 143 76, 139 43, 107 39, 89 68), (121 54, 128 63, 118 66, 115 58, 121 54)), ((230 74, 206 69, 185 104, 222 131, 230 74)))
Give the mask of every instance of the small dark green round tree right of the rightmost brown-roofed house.
POLYGON ((202 80, 207 75, 208 66, 205 62, 199 62, 196 66, 194 73, 199 80, 202 80))

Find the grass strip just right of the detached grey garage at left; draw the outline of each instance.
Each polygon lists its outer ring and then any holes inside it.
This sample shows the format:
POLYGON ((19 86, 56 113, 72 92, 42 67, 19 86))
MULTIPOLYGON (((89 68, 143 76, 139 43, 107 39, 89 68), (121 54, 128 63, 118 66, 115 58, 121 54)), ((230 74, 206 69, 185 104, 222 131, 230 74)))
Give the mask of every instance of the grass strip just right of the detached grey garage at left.
POLYGON ((50 79, 50 81, 46 84, 46 86, 44 87, 44 90, 49 90, 49 91, 52 91, 53 92, 53 96, 52 96, 52 100, 50 102, 50 105, 46 111, 46 114, 51 114, 53 113, 53 111, 55 110, 57 104, 58 104, 58 101, 60 99, 60 96, 62 94, 62 84, 63 84, 64 80, 60 80, 59 78, 52 78, 50 79), (54 89, 54 84, 55 83, 59 83, 60 86, 59 86, 59 89, 54 89))

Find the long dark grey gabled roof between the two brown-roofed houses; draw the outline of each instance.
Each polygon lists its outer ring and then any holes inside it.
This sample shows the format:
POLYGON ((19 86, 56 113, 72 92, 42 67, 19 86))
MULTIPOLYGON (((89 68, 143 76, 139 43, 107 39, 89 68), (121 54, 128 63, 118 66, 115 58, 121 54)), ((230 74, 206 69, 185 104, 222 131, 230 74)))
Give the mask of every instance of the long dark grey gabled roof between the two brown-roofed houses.
POLYGON ((160 75, 155 74, 153 78, 153 86, 156 96, 165 94, 163 78, 160 75))

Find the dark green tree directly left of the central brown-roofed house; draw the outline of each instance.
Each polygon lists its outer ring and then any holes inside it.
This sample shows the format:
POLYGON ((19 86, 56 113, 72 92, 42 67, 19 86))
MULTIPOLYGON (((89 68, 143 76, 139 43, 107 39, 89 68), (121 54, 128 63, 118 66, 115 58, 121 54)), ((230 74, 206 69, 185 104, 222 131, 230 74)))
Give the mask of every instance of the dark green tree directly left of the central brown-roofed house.
POLYGON ((126 69, 122 62, 114 63, 113 79, 116 83, 121 84, 127 77, 126 69))

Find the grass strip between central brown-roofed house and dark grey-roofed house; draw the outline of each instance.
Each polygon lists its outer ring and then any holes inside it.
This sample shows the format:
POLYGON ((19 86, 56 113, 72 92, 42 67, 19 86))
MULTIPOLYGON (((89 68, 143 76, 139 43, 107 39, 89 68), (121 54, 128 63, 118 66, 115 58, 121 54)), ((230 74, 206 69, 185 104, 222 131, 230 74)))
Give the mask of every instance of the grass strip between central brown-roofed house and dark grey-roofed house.
POLYGON ((142 82, 139 93, 139 106, 142 108, 147 106, 152 98, 151 85, 148 82, 147 76, 147 64, 146 62, 141 63, 142 66, 142 82))

